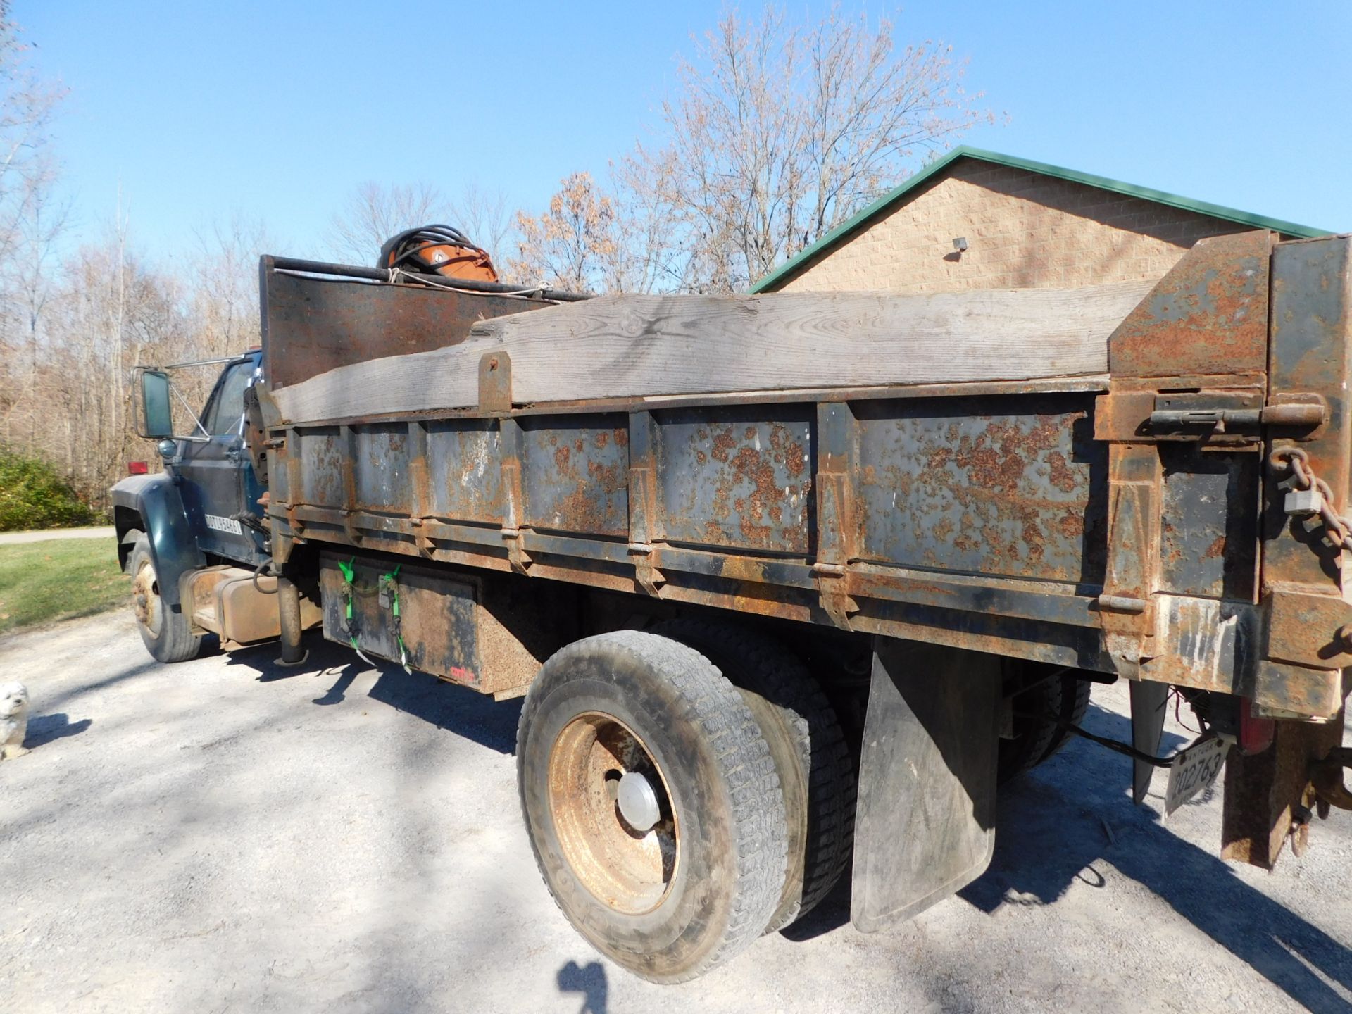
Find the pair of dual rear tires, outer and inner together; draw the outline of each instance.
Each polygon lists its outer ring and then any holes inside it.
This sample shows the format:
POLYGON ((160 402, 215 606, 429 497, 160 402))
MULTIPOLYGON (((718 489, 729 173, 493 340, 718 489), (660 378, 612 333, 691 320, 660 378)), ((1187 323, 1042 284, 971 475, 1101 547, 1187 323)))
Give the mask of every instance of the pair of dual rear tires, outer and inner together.
POLYGON ((802 662, 740 627, 673 621, 564 648, 526 696, 516 769, 554 902, 652 982, 792 922, 849 861, 834 713, 802 662))

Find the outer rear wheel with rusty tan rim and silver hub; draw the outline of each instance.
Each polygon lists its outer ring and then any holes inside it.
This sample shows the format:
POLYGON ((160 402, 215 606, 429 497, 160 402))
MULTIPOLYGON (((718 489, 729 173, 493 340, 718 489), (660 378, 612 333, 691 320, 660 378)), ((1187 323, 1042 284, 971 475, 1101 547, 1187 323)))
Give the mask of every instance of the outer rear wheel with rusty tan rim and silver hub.
POLYGON ((625 968, 692 979, 775 911, 787 840, 775 763, 694 649, 622 630, 556 653, 526 695, 516 773, 554 902, 625 968))

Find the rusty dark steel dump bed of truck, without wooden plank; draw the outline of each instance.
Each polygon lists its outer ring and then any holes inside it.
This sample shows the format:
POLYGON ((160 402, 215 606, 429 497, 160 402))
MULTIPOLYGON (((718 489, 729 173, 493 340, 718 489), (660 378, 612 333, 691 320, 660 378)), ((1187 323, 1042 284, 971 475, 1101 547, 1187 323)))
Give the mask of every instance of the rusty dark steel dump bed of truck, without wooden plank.
MULTIPOLYGON (((274 391, 538 306, 269 265, 274 391)), ((1111 334, 1107 377, 550 407, 485 370, 473 410, 273 407, 273 549, 512 571, 1329 718, 1352 661, 1326 538, 1348 499, 1348 307, 1347 237, 1249 233, 1159 283, 1111 334), (1310 510, 1287 500, 1293 449, 1326 483, 1322 519, 1287 512, 1310 510)))

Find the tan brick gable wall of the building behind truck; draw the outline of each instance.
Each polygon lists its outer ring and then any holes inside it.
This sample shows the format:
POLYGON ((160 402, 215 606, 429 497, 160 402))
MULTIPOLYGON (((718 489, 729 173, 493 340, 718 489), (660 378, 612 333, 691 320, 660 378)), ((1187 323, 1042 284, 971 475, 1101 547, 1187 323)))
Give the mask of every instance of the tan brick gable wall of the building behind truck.
POLYGON ((1245 226, 972 158, 775 287, 780 292, 1072 288, 1161 277, 1245 226), (967 237, 959 257, 953 237, 967 237))

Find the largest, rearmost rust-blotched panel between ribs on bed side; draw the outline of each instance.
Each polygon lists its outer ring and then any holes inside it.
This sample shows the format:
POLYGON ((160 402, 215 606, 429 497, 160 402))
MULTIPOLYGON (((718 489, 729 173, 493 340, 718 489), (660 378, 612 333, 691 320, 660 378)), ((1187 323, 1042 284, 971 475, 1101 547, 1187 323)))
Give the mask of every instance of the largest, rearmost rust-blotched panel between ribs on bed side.
POLYGON ((1096 584, 1106 454, 1088 395, 867 402, 860 556, 1096 584))

